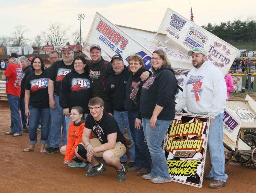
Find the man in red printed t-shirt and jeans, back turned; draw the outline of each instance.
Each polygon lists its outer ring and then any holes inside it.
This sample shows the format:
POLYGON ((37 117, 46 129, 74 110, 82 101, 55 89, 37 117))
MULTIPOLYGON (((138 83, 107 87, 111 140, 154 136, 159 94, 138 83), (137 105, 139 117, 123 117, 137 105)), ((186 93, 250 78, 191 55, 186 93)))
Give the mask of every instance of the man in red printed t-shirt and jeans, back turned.
POLYGON ((2 75, 2 80, 6 80, 6 95, 11 110, 11 130, 5 132, 6 135, 14 137, 22 135, 21 118, 19 112, 20 85, 22 80, 22 68, 17 53, 12 53, 8 60, 8 68, 2 75))

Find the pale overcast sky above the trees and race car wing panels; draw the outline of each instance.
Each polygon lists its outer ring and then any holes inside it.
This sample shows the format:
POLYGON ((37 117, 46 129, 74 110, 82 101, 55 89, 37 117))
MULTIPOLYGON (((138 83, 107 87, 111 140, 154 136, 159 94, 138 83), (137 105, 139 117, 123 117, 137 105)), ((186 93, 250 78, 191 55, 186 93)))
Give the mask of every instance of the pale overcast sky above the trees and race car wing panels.
MULTIPOLYGON (((9 36, 17 25, 25 26, 25 37, 33 41, 36 35, 47 31, 50 23, 70 26, 70 33, 80 30, 78 14, 82 20, 83 38, 87 36, 95 13, 100 13, 118 25, 157 31, 169 7, 189 18, 189 0, 1 0, 0 37, 9 36)), ((228 20, 256 18, 255 0, 191 0, 194 22, 197 25, 220 24, 228 20)))

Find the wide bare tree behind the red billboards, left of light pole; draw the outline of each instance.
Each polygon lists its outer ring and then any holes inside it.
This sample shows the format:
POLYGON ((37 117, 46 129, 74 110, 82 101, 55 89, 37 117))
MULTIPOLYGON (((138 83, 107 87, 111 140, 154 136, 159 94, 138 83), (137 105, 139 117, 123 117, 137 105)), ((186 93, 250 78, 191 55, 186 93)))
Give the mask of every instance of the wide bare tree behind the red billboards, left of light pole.
POLYGON ((42 38, 47 46, 60 46, 67 42, 67 33, 69 27, 63 29, 62 25, 59 23, 50 24, 48 32, 43 32, 42 38))

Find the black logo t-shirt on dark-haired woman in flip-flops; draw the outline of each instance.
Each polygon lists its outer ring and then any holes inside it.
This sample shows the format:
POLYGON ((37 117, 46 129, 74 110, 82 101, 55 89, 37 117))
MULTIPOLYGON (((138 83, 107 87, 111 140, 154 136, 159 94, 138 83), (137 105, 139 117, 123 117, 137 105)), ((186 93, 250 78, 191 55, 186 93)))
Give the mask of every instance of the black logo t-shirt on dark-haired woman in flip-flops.
POLYGON ((30 90, 29 105, 34 108, 49 107, 48 76, 43 71, 40 75, 35 73, 26 78, 24 88, 30 90))

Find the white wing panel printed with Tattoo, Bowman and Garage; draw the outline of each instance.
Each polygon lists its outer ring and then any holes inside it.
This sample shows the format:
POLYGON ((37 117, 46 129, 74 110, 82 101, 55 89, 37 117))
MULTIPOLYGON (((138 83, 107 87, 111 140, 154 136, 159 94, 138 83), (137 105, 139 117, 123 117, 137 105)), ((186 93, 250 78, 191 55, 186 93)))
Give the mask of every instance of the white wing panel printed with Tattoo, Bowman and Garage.
POLYGON ((239 52, 235 47, 169 8, 157 33, 166 34, 168 41, 174 41, 186 50, 204 48, 208 60, 218 67, 223 75, 228 73, 239 52))

